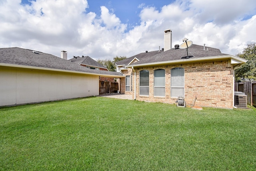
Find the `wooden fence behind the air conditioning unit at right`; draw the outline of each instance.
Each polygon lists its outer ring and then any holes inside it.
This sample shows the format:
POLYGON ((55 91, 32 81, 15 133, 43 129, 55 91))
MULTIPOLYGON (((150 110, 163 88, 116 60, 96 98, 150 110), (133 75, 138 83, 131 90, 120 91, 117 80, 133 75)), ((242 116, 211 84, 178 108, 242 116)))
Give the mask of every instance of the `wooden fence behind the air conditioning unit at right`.
POLYGON ((256 81, 235 83, 235 91, 241 91, 247 95, 247 103, 256 106, 256 81))

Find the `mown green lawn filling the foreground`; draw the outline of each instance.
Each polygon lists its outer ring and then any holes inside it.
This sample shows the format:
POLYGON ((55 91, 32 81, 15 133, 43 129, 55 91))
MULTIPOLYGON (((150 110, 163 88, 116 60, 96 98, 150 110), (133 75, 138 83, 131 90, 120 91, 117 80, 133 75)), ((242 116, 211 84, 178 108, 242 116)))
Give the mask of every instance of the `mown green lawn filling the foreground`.
POLYGON ((90 97, 0 108, 0 170, 254 170, 256 109, 90 97))

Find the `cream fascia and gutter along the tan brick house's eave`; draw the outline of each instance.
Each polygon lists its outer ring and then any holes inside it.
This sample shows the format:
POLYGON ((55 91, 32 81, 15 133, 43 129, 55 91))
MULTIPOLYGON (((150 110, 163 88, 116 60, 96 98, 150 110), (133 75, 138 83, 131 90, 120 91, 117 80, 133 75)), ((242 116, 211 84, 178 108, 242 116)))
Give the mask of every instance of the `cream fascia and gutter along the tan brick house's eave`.
POLYGON ((155 66, 155 65, 166 65, 166 64, 177 64, 177 63, 194 63, 194 62, 225 60, 225 59, 233 59, 234 61, 237 62, 235 64, 243 64, 248 61, 233 55, 223 55, 223 56, 209 56, 209 57, 203 57, 203 58, 190 58, 190 59, 173 60, 173 61, 152 62, 152 63, 146 63, 146 64, 134 64, 126 67, 132 68, 132 67, 155 66))

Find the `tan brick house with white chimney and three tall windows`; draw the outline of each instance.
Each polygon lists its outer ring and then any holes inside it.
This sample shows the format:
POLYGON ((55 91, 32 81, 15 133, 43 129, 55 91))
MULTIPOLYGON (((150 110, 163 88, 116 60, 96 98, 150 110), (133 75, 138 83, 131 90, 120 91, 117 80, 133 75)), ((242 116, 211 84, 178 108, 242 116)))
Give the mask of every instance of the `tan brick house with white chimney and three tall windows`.
POLYGON ((120 91, 134 99, 175 103, 184 96, 186 104, 233 108, 234 70, 247 62, 219 49, 192 44, 186 49, 171 48, 172 32, 164 31, 164 48, 144 52, 116 62, 120 91))

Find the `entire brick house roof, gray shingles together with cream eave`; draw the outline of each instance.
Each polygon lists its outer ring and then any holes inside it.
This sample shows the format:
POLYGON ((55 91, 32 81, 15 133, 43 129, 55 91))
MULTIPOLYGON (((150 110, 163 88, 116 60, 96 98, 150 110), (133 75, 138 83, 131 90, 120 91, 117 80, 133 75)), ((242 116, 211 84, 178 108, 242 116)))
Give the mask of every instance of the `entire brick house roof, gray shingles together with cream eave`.
POLYGON ((167 51, 158 51, 160 53, 156 53, 156 52, 157 51, 154 51, 154 54, 152 53, 152 55, 143 56, 142 58, 140 58, 140 61, 136 63, 129 64, 127 62, 128 62, 128 59, 131 61, 134 57, 140 56, 141 54, 127 58, 126 61, 125 60, 119 61, 116 65, 131 68, 132 66, 133 67, 156 66, 156 65, 163 65, 163 64, 189 63, 189 62, 196 62, 196 61, 219 60, 219 59, 223 59, 223 60, 231 59, 231 64, 239 65, 247 61, 237 56, 223 54, 220 52, 219 49, 216 49, 216 48, 205 47, 205 50, 204 50, 204 46, 200 46, 196 44, 192 44, 188 48, 189 58, 187 58, 186 49, 172 48, 167 51))

